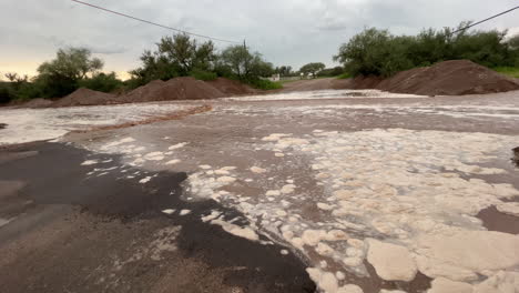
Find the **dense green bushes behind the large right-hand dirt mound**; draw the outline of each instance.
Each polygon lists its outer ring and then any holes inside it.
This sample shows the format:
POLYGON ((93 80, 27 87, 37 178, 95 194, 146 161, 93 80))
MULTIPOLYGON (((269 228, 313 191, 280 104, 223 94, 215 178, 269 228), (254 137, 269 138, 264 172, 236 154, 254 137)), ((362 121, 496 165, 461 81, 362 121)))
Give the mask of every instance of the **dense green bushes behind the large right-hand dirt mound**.
MULTIPOLYGON (((462 22, 459 28, 468 24, 462 22)), ((388 30, 367 28, 340 46, 334 60, 353 77, 390 77, 399 71, 457 59, 488 68, 519 67, 519 36, 506 39, 506 30, 456 34, 452 31, 427 29, 417 36, 395 36, 388 30)))

